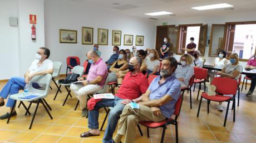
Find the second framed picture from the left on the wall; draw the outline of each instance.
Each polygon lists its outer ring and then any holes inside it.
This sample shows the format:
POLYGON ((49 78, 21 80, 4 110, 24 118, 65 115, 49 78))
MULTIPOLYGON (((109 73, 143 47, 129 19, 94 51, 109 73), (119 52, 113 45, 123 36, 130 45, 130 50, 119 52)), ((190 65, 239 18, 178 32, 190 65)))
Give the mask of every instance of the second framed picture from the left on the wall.
POLYGON ((92 45, 93 43, 93 28, 82 27, 82 44, 92 45))

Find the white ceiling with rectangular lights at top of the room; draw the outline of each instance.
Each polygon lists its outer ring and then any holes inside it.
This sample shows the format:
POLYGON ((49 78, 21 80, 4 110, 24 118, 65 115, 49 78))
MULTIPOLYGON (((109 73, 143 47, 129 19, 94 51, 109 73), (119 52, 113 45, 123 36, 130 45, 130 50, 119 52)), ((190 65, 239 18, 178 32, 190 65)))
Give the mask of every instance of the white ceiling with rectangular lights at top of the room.
MULTIPOLYGON (((48 0, 52 1, 52 0, 48 0)), ((56 0, 58 1, 58 0, 56 0)), ((59 0, 60 1, 60 0, 59 0)), ((74 3, 85 4, 85 6, 105 9, 106 11, 118 12, 130 16, 143 18, 165 19, 184 16, 218 16, 228 13, 256 12, 256 0, 65 0, 74 3), (118 3, 120 5, 115 5, 118 3), (234 10, 212 9, 208 11, 196 11, 191 7, 209 4, 228 3, 233 5, 234 10), (116 7, 116 8, 115 8, 116 7), (168 11, 176 16, 146 16, 145 13, 168 11)), ((63 0, 62 0, 63 2, 63 0)))

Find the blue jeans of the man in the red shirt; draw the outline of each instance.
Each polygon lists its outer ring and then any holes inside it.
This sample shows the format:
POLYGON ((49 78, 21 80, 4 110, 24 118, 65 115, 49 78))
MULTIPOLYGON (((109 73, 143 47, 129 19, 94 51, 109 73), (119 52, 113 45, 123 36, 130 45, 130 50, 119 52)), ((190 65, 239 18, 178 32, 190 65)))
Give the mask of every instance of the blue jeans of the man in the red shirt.
POLYGON ((94 109, 88 113, 88 127, 89 129, 99 129, 99 109, 103 107, 113 107, 109 112, 109 119, 107 122, 107 128, 102 142, 112 142, 112 136, 117 126, 117 122, 124 109, 125 105, 121 104, 124 99, 115 96, 115 99, 102 99, 95 106, 94 109))

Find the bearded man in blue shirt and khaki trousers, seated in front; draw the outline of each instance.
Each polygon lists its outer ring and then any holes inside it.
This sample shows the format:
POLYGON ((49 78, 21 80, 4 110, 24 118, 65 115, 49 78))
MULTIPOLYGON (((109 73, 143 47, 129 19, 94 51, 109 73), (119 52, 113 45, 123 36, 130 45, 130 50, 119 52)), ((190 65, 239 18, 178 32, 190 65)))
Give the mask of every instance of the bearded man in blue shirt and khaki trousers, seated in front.
POLYGON ((180 83, 174 74, 178 62, 173 57, 167 57, 162 62, 161 76, 157 76, 142 95, 141 102, 137 104, 139 110, 132 109, 132 104, 125 105, 114 142, 119 143, 125 135, 124 142, 132 143, 140 121, 159 122, 173 115, 180 96, 180 83))

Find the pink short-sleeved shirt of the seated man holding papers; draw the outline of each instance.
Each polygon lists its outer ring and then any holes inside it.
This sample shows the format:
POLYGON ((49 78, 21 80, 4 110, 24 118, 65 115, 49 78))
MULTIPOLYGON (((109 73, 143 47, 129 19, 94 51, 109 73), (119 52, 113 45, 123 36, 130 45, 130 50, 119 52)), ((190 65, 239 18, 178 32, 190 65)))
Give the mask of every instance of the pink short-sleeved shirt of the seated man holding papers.
POLYGON ((87 75, 87 80, 90 82, 96 79, 97 76, 102 76, 102 80, 100 83, 98 83, 98 85, 103 88, 107 78, 107 65, 102 59, 99 59, 96 63, 91 64, 89 73, 87 75))

